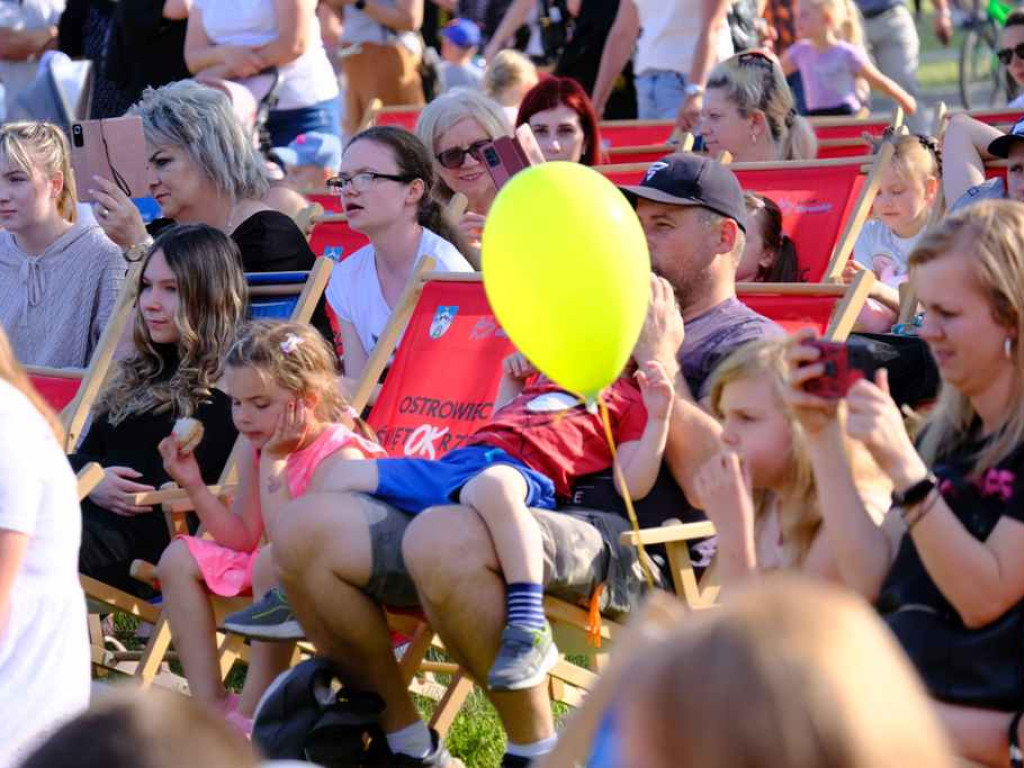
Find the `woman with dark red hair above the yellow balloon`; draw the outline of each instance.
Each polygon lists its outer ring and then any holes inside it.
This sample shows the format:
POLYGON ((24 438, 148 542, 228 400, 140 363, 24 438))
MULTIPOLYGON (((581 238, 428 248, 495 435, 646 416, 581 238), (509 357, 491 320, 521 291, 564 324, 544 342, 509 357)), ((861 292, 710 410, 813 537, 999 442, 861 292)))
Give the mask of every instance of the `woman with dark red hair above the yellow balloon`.
POLYGON ((532 129, 545 160, 584 165, 601 162, 597 114, 575 80, 547 77, 534 86, 519 106, 516 125, 523 123, 532 129))

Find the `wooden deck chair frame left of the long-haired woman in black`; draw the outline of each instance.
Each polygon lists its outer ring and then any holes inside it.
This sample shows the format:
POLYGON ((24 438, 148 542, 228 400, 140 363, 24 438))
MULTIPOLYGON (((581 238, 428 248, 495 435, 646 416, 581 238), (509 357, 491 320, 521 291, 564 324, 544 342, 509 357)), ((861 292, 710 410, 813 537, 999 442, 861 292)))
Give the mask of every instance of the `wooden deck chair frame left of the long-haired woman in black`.
POLYGON ((71 454, 78 445, 82 430, 89 419, 89 413, 96 402, 102 390, 103 383, 112 370, 114 353, 117 351, 118 343, 121 341, 125 324, 134 313, 136 298, 135 288, 138 284, 138 274, 142 265, 133 263, 125 274, 124 284, 118 300, 111 311, 106 327, 99 335, 96 348, 92 352, 89 367, 85 369, 61 369, 47 368, 44 366, 26 366, 26 371, 30 376, 45 376, 48 378, 74 379, 80 381, 78 392, 67 407, 60 412, 60 426, 65 430, 63 450, 66 454, 71 454))

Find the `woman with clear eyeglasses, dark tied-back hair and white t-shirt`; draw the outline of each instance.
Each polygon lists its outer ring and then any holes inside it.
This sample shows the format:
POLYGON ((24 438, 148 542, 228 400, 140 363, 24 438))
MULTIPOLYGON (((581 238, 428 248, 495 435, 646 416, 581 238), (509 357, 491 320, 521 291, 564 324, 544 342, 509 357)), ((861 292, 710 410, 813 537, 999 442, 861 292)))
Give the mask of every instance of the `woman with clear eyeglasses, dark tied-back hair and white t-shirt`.
MULTIPOLYGON (((489 180, 489 177, 488 177, 489 180)), ((327 300, 338 316, 345 378, 357 380, 394 308, 425 257, 438 271, 470 272, 469 247, 434 194, 430 153, 409 131, 370 128, 345 147, 328 182, 341 195, 349 225, 370 239, 331 274, 327 300)))

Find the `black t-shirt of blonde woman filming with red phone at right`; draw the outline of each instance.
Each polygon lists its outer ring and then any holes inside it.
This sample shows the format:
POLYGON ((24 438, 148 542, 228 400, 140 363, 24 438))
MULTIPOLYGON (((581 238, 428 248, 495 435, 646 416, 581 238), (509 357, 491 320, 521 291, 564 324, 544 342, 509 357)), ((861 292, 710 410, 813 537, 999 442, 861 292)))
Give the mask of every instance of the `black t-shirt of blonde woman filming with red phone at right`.
MULTIPOLYGON (((969 442, 932 468, 949 509, 980 542, 988 539, 1004 515, 1024 522, 1024 445, 981 477, 971 477, 968 471, 982 444, 980 440, 969 442)), ((882 586, 878 608, 888 613, 908 604, 928 605, 944 615, 956 615, 925 569, 913 539, 905 535, 882 586)))

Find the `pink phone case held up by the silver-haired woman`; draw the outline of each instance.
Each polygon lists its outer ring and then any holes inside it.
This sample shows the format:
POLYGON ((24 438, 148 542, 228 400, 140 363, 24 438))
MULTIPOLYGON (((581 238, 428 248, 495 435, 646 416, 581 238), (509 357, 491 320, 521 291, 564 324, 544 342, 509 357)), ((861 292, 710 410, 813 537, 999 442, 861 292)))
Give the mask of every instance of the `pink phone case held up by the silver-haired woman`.
POLYGON ((92 202, 93 176, 114 182, 129 198, 148 197, 142 119, 133 115, 72 123, 71 165, 81 203, 92 202))

